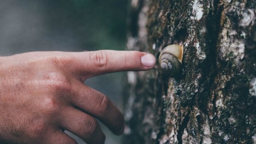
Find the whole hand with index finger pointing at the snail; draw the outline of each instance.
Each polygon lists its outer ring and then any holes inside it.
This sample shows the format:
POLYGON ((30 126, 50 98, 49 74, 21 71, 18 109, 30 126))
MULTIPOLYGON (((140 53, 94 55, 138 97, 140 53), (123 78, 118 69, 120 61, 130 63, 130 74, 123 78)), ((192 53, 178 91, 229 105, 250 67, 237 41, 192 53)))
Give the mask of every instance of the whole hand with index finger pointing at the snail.
POLYGON ((89 77, 153 68, 151 54, 136 51, 29 52, 0 57, 0 143, 103 144, 96 119, 114 134, 124 116, 107 96, 84 85, 89 77))

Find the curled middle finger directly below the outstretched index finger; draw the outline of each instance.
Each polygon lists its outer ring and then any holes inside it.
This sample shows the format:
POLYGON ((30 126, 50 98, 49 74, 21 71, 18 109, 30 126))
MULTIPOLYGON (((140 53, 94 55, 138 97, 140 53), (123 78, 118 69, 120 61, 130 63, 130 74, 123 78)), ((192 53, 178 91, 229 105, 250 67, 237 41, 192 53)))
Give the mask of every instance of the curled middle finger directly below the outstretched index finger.
POLYGON ((117 107, 102 93, 77 81, 71 98, 74 106, 92 115, 105 124, 114 134, 124 131, 124 116, 117 107))

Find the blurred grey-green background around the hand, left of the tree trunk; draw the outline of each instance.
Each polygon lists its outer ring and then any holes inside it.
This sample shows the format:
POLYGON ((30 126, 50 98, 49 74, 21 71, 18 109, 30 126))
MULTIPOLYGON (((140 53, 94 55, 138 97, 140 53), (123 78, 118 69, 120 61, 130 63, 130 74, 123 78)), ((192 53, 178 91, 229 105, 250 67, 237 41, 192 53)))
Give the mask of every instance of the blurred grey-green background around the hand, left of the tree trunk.
MULTIPOLYGON (((127 0, 1 0, 0 55, 124 50, 127 4, 127 0)), ((124 74, 93 77, 85 83, 107 95, 122 111, 124 74)), ((121 143, 120 136, 114 136, 102 124, 101 127, 106 134, 106 144, 121 143)))

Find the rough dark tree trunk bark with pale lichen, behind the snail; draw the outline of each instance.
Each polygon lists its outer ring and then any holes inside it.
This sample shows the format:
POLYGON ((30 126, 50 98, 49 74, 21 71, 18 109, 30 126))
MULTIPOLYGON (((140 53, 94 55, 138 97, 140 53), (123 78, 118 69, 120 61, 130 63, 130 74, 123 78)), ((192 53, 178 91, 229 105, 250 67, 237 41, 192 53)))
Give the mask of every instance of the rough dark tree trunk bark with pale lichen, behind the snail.
POLYGON ((131 0, 128 50, 183 44, 180 77, 128 72, 127 144, 256 143, 255 0, 131 0))

